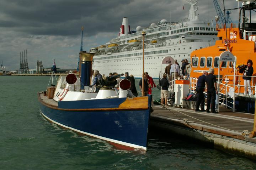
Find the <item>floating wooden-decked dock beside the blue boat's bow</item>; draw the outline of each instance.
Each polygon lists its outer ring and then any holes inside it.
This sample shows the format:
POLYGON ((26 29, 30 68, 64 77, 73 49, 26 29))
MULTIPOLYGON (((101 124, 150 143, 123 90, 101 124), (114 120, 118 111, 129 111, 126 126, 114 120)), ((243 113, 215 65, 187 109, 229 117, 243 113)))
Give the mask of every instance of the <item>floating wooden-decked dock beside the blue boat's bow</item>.
POLYGON ((254 114, 213 114, 157 105, 153 108, 150 126, 208 142, 214 148, 256 160, 256 137, 242 134, 244 130, 253 130, 254 114))

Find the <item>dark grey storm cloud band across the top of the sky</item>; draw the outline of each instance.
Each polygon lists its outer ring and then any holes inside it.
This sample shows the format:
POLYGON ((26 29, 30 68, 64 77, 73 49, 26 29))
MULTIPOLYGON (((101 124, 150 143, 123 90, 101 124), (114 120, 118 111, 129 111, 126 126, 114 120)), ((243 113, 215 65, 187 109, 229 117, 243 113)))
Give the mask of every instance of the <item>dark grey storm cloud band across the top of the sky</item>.
MULTIPOLYGON (((231 0, 227 1, 230 2, 231 0)), ((1 0, 0 27, 34 35, 85 35, 118 32, 123 17, 131 28, 148 27, 161 19, 178 20, 186 16, 185 1, 173 0, 1 0)), ((212 0, 199 0, 198 12, 216 15, 212 0), (209 6, 210 5, 210 6, 209 6), (208 7, 206 7, 208 6, 208 7), (208 10, 209 9, 209 10, 208 10)), ((207 17, 207 16, 203 16, 207 17)))

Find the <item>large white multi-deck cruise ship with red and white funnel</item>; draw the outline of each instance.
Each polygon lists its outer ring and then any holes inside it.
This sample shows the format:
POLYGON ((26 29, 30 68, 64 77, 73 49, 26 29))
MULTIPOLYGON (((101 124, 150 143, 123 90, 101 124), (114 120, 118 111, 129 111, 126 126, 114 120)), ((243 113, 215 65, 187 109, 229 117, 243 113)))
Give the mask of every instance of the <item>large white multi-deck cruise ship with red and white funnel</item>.
POLYGON ((92 68, 107 76, 110 72, 129 72, 135 78, 142 77, 142 31, 146 32, 144 70, 153 78, 159 77, 164 57, 172 57, 181 66, 182 59, 190 61, 192 51, 214 45, 217 39, 215 24, 199 20, 197 1, 190 0, 186 5, 190 6, 188 18, 181 22, 162 19, 157 24, 151 23, 148 28, 138 26, 136 31, 130 31, 128 18, 123 18, 117 38, 90 49, 96 53, 92 68))

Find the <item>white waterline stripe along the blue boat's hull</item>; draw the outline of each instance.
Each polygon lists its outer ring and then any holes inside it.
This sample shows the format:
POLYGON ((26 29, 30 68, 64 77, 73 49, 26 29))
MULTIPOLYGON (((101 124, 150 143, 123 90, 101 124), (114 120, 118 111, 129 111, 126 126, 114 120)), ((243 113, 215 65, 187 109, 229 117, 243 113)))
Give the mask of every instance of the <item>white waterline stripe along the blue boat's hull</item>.
POLYGON ((52 121, 53 123, 59 125, 59 126, 62 126, 64 128, 67 128, 67 129, 70 129, 70 130, 73 130, 73 131, 76 131, 76 132, 79 132, 81 134, 85 134, 85 135, 88 135, 88 136, 93 136, 93 137, 96 137, 96 138, 99 138, 99 139, 102 139, 102 140, 105 140, 105 141, 110 141, 110 142, 113 142, 113 143, 118 143, 120 145, 124 145, 124 146, 129 146, 129 147, 132 147, 132 148, 139 148, 139 149, 143 149, 143 150, 147 150, 146 147, 143 147, 143 146, 139 146, 139 145, 134 145, 132 143, 127 143, 127 142, 122 142, 122 141, 118 141, 118 140, 114 140, 114 139, 110 139, 110 138, 107 138, 107 137, 102 137, 102 136, 98 136, 98 135, 94 135, 94 134, 90 134, 90 133, 87 133, 87 132, 84 132, 84 131, 81 131, 81 130, 78 130, 78 129, 74 129, 74 128, 71 128, 69 126, 66 126, 66 125, 63 125, 63 124, 60 124, 58 123, 57 121, 54 121, 50 118, 48 118, 45 114, 43 114, 43 112, 40 110, 41 114, 48 120, 52 121))

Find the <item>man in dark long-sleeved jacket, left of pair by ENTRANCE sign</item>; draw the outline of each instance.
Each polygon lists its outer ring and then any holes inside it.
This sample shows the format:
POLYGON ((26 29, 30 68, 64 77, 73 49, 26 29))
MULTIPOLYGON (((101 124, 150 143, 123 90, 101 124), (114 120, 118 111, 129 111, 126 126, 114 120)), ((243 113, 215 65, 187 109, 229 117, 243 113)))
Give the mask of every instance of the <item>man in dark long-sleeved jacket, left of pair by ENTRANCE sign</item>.
POLYGON ((199 112, 199 105, 201 104, 201 112, 204 112, 204 87, 205 87, 205 79, 208 73, 206 71, 203 72, 203 75, 201 75, 197 80, 197 102, 196 102, 196 112, 199 112))

